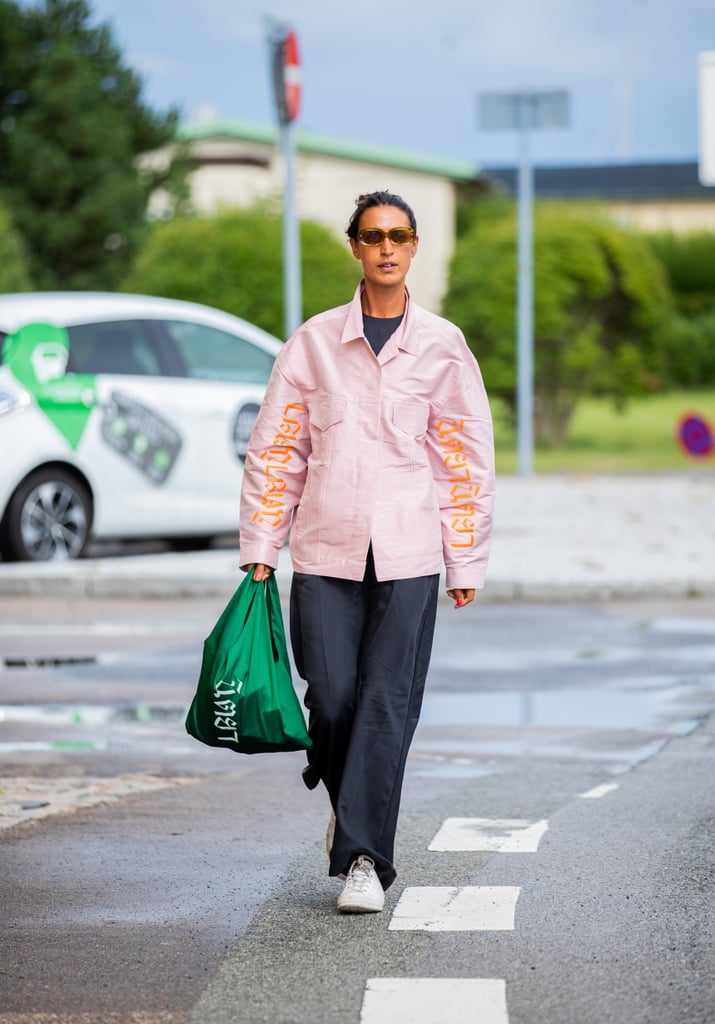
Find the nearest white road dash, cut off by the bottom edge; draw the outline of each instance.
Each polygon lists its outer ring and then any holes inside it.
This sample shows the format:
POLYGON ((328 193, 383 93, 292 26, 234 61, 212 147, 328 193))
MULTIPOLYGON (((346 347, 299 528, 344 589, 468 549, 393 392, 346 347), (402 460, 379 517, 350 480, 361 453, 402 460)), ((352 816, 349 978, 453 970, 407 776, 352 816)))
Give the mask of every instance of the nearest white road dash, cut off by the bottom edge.
POLYGON ((369 978, 360 1024, 508 1024, 496 978, 369 978))

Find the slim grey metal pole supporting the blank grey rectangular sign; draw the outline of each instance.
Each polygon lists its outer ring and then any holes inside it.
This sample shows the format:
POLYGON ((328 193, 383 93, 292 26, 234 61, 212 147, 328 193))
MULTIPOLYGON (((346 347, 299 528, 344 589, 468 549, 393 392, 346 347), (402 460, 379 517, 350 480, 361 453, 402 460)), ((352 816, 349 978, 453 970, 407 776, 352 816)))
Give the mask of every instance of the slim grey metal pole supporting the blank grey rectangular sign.
POLYGON ((534 182, 529 153, 531 97, 519 97, 516 296, 516 429, 519 476, 534 471, 534 182))

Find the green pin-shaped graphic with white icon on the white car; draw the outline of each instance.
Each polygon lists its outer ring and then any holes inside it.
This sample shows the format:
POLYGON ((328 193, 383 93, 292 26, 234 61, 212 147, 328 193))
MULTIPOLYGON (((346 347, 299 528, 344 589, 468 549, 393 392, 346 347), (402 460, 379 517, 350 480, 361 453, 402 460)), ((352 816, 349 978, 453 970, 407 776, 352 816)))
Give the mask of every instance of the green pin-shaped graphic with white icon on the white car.
POLYGON ((96 406, 94 374, 65 375, 70 337, 65 328, 29 324, 5 339, 3 361, 76 451, 96 406))

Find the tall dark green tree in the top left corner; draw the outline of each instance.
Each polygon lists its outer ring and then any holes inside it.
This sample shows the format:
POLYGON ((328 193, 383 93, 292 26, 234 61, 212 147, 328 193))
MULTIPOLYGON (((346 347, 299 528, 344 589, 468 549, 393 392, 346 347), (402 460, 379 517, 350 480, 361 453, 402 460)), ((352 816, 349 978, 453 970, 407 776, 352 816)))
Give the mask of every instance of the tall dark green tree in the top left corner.
POLYGON ((137 158, 173 141, 85 0, 0 0, 0 195, 40 288, 112 288, 145 228, 150 194, 180 191, 178 165, 137 158))

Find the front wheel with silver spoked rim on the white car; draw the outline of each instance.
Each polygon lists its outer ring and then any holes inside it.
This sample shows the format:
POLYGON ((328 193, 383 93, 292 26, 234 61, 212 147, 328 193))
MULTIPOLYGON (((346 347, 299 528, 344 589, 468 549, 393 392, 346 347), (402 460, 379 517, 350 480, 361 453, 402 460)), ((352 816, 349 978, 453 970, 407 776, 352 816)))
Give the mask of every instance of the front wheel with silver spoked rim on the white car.
POLYGON ((79 558, 91 521, 92 501, 78 477, 64 469, 38 469, 7 506, 3 555, 24 562, 79 558))

